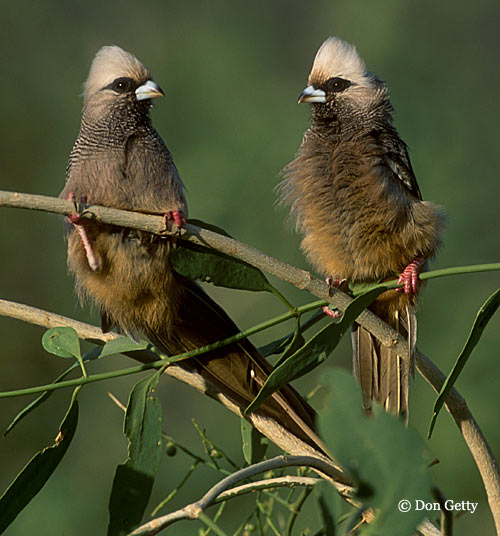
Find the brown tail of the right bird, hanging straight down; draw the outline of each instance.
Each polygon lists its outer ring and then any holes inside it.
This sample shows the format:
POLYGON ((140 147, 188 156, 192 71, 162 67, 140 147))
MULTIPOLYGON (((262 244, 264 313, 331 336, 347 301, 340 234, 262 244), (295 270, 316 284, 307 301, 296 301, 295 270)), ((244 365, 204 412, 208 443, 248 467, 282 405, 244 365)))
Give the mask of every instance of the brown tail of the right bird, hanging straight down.
POLYGON ((417 320, 412 306, 388 314, 384 320, 408 340, 408 355, 400 356, 383 346, 371 333, 352 328, 353 370, 363 395, 363 408, 370 412, 372 400, 386 411, 408 420, 410 374, 414 375, 417 320))

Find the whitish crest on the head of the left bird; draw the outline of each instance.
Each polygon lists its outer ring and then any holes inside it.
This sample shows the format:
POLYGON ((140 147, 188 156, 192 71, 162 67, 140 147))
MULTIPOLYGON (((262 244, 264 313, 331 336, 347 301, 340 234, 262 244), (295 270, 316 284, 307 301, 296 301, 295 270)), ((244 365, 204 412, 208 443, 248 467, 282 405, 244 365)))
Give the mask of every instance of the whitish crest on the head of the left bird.
POLYGON ((120 77, 129 77, 137 82, 146 81, 151 74, 135 56, 118 46, 102 47, 90 66, 89 76, 85 82, 85 101, 113 80, 120 77))

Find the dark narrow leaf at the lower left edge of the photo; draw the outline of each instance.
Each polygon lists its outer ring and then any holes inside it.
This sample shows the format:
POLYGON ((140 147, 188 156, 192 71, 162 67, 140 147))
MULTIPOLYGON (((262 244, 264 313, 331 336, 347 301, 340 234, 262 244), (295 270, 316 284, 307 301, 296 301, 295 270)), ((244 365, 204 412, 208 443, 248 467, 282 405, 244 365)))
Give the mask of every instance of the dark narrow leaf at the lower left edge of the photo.
POLYGON ((0 497, 0 534, 43 488, 68 450, 78 424, 78 390, 73 394, 54 444, 35 454, 0 497))

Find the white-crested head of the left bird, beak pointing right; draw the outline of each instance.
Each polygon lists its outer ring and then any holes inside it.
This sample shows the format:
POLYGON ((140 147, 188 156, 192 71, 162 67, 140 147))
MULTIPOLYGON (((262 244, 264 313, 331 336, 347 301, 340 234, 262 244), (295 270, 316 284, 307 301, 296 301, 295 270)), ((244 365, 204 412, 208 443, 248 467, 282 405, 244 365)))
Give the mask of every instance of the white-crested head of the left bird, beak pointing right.
POLYGON ((148 114, 151 99, 163 97, 149 69, 118 46, 104 46, 90 66, 84 86, 84 107, 93 115, 117 110, 148 114))

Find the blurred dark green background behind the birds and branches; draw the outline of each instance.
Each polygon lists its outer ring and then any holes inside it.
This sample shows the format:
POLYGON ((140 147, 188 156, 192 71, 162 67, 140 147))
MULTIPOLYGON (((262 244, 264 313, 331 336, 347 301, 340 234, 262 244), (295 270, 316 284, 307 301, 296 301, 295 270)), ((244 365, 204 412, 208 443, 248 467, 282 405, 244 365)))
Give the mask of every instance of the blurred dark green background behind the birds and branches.
MULTIPOLYGON (((153 121, 173 152, 188 187, 190 215, 306 268, 299 239, 275 208, 279 170, 292 159, 309 109, 297 106, 314 54, 328 35, 356 44, 370 70, 388 81, 396 126, 411 148, 424 197, 446 207, 445 246, 434 267, 498 261, 497 0, 387 0, 370 2, 219 2, 86 0, 1 1, 1 185, 5 190, 57 195, 77 135, 82 82, 104 44, 118 44, 152 70, 167 98, 153 121)), ((0 210, 0 296, 96 321, 77 304, 65 269, 61 219, 0 210)), ((498 274, 431 282, 422 300, 419 347, 449 371, 480 304, 498 287, 498 274)), ((294 303, 311 299, 280 284, 294 303)), ((241 327, 283 311, 261 294, 209 289, 241 327)), ((288 331, 289 326, 256 339, 288 331)), ((50 382, 67 366, 40 346, 42 330, 0 318, 0 389, 50 382)), ((498 426, 500 317, 487 328, 458 388, 500 454, 498 426)), ((100 363, 100 372, 130 361, 100 363)), ((348 341, 324 367, 350 367, 348 341)), ((307 392, 321 374, 298 382, 307 392)), ((77 435, 56 474, 7 530, 9 536, 104 534, 115 466, 126 456, 122 415, 112 391, 126 401, 136 377, 93 384, 81 393, 77 435)), ((0 489, 40 448, 52 442, 68 403, 57 392, 12 434, 0 440, 0 489)), ((191 419, 241 461, 239 422, 215 402, 165 378, 159 390, 167 431, 200 452, 191 419)), ((425 437, 434 396, 420 377, 412 394, 411 425, 425 437)), ((26 399, 0 400, 4 429, 26 399)), ((348 440, 348 438, 346 439, 348 440)), ((432 472, 454 500, 479 502, 457 522, 457 535, 492 534, 486 496, 460 433, 443 412, 429 455, 432 472)), ((188 462, 165 459, 154 500, 181 479, 188 462)), ((395 475, 395 478, 404 475, 395 475)), ((171 505, 197 499, 218 476, 200 474, 171 505)), ((155 503, 156 504, 156 503, 155 503)), ((249 503, 229 509, 228 527, 249 503), (239 508, 241 507, 241 510, 239 508), (233 520, 231 520, 231 512, 233 520)), ((307 517, 309 516, 309 517, 307 517)), ((315 527, 315 511, 301 528, 315 527)), ((197 533, 178 524, 175 534, 197 533)), ((298 532, 297 532, 298 533, 298 532)))

